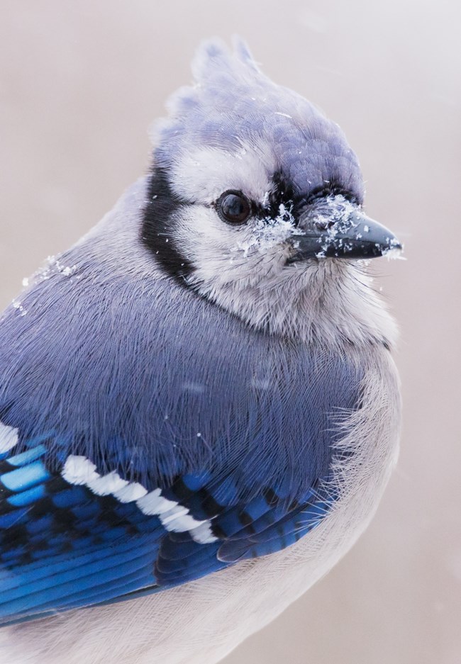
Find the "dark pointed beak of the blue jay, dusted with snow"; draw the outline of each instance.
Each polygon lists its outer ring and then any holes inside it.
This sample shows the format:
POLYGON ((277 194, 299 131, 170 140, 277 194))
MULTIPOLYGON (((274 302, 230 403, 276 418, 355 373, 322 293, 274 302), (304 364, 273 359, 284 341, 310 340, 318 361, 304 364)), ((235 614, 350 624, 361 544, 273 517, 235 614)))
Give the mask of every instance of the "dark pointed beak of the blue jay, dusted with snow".
POLYGON ((317 215, 301 221, 290 240, 294 254, 289 263, 307 258, 377 258, 402 249, 394 233, 359 209, 335 219, 317 215))

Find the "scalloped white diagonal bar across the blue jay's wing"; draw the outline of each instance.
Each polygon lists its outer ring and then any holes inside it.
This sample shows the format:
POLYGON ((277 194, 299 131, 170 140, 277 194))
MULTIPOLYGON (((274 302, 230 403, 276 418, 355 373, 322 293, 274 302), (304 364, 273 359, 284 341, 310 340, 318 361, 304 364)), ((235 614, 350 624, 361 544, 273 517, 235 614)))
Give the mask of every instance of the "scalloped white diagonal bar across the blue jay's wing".
POLYGON ((175 533, 189 531, 191 538, 199 544, 209 544, 217 539, 208 519, 194 519, 187 507, 162 496, 160 488, 148 493, 143 485, 123 480, 116 472, 99 475, 94 463, 85 456, 67 457, 62 477, 69 484, 86 486, 95 495, 113 495, 123 503, 135 502, 143 514, 159 517, 165 530, 175 533))

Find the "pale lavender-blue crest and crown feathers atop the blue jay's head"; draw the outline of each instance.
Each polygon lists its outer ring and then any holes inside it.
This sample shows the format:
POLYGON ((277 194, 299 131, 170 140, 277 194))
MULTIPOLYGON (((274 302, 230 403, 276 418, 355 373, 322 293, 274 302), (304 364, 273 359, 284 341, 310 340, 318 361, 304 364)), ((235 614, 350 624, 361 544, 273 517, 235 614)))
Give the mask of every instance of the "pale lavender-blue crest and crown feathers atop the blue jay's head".
POLYGON ((170 118, 157 125, 160 167, 170 168, 197 145, 229 152, 242 146, 265 152, 270 145, 270 167, 275 164, 295 193, 330 190, 362 202, 362 174, 343 131, 304 97, 262 74, 241 40, 233 52, 207 41, 192 71, 194 86, 172 96, 170 118))

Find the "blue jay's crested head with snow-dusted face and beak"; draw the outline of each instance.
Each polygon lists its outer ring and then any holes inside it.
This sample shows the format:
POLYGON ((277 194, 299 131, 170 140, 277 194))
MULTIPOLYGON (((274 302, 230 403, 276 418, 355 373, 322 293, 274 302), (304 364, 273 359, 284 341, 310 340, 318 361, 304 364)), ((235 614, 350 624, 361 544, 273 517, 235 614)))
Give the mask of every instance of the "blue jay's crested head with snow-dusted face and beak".
POLYGON ((324 336, 370 291, 357 259, 401 245, 363 212, 338 125, 265 77, 243 43, 206 43, 193 72, 155 127, 143 242, 165 273, 250 325, 324 336))

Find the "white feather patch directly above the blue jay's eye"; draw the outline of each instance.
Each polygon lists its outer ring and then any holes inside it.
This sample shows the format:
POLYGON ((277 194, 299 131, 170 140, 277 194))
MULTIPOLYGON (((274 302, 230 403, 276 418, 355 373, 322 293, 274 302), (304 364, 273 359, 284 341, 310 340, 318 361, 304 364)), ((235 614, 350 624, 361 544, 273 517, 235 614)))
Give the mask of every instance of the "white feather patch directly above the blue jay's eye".
POLYGON ((172 167, 174 193, 186 201, 210 204, 228 189, 243 191, 253 201, 261 201, 270 188, 275 160, 267 150, 258 152, 241 147, 235 152, 200 148, 181 155, 172 167))

